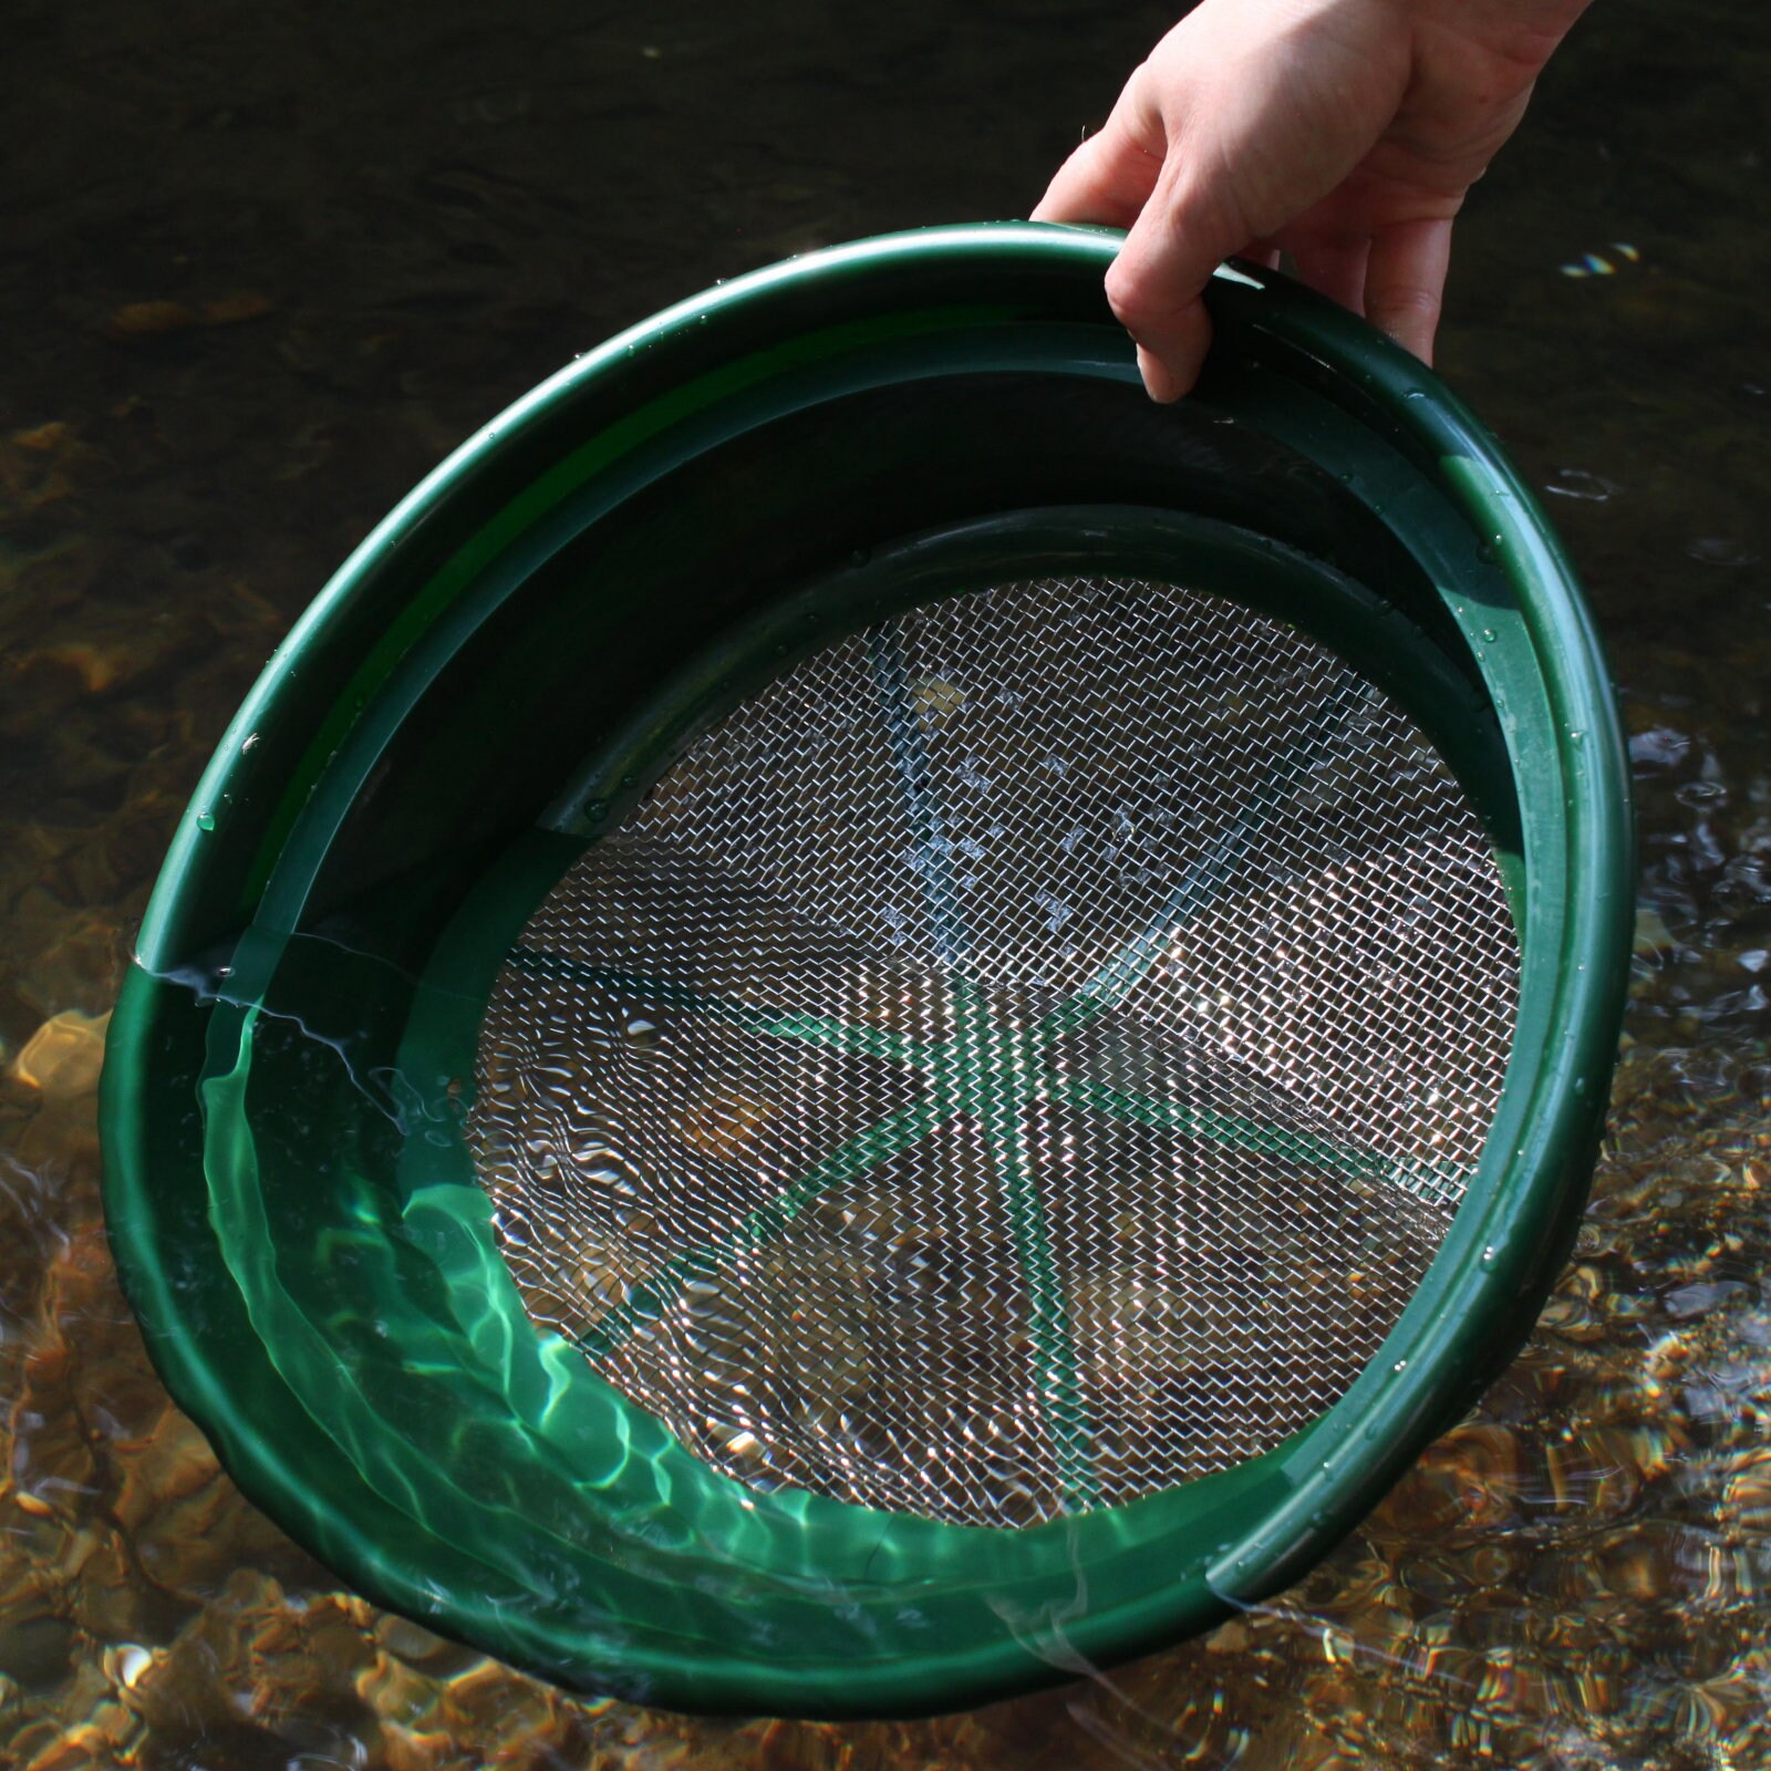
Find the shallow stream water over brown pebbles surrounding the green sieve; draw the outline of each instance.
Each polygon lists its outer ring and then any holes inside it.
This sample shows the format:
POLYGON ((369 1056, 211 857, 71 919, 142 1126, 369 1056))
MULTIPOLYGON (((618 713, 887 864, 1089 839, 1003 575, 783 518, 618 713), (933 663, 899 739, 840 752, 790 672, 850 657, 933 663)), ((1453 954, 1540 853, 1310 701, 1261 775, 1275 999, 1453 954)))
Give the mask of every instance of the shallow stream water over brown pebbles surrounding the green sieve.
POLYGON ((0 1759, 1771 1762, 1771 241, 1743 227, 1771 57, 1744 0, 1596 9, 1461 230, 1442 351, 1555 494, 1642 795, 1628 1048, 1569 1272, 1470 1420, 1284 1599, 1109 1679, 855 1727, 558 1697, 342 1594, 253 1512, 117 1291, 103 1017, 228 712, 441 450, 715 275, 1024 209, 1164 12, 528 0, 395 34, 115 7, 73 43, 16 11, 0 1759), (1589 250, 1615 275, 1564 276, 1589 250))

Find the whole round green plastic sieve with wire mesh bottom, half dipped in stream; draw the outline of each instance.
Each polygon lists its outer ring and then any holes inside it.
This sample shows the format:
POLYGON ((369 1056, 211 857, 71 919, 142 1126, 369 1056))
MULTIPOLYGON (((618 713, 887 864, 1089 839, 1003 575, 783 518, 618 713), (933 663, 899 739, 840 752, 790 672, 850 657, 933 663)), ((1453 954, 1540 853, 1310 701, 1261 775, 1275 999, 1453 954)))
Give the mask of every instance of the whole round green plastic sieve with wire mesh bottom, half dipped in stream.
POLYGON ((1631 923, 1543 515, 1226 267, 723 285, 439 468, 267 666, 112 1024, 112 1238, 375 1599, 682 1709, 953 1709, 1295 1580, 1573 1236, 1631 923))

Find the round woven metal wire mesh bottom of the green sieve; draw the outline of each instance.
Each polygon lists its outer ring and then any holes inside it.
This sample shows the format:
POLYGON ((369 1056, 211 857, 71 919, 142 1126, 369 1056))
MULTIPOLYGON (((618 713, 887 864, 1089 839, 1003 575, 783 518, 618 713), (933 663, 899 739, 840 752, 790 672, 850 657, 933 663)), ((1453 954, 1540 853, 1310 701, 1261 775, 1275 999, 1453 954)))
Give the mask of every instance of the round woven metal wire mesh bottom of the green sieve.
POLYGON ((1024 1525, 1344 1394, 1516 974, 1481 824, 1335 655, 1006 584, 809 657, 584 852, 469 1141, 531 1314, 700 1458, 1024 1525))

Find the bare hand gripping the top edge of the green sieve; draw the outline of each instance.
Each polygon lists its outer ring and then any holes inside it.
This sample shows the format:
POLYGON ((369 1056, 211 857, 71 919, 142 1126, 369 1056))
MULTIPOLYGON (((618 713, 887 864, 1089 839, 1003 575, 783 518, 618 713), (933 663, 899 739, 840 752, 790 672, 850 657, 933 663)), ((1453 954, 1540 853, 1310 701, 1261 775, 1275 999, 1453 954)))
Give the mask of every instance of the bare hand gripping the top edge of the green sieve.
POLYGON ((1587 0, 1203 0, 1052 179, 1036 221, 1130 228, 1107 299, 1144 386, 1199 375, 1218 260, 1275 264, 1433 360, 1465 193, 1587 0))

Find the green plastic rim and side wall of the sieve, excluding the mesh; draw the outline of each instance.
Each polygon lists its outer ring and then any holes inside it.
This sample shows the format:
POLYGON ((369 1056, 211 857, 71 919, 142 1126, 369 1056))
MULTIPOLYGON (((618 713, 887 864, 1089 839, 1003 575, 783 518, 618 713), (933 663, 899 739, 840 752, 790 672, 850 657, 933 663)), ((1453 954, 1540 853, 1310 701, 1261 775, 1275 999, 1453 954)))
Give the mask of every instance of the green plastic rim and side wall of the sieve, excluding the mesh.
POLYGON ((370 535, 223 739, 112 1022, 110 1233, 177 1401, 379 1603, 668 1707, 965 1707, 1282 1589, 1528 1332, 1628 978, 1628 770, 1592 620, 1496 443, 1296 285, 1226 267, 1201 388, 1144 404, 1102 298, 1116 244, 864 241, 611 340, 370 535), (1004 430, 1047 406, 1082 416, 1004 430), (758 565, 703 609, 685 586, 746 522, 758 565), (1261 1458, 1024 1530, 754 1493, 524 1314, 459 1130, 489 967, 770 657, 983 563, 1102 558, 1295 611, 1459 774, 1523 951, 1482 1164, 1362 1376, 1261 1458), (544 728, 522 685, 574 669, 604 687, 544 728))

